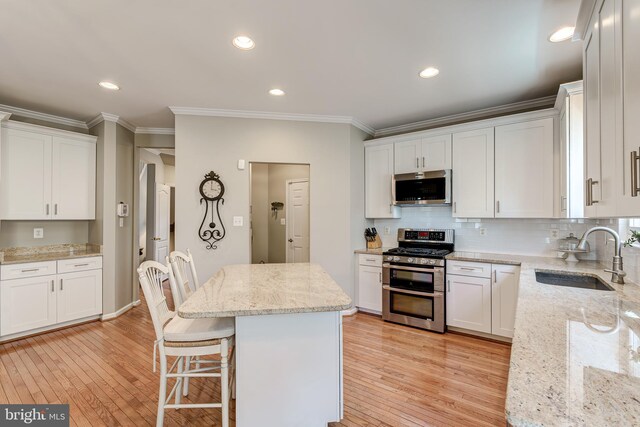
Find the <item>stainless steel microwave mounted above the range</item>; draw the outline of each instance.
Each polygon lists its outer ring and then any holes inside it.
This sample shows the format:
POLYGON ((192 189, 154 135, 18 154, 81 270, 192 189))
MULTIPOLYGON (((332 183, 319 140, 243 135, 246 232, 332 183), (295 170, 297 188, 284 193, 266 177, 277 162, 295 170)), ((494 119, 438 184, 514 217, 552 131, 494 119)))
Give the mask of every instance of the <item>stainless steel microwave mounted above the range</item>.
POLYGON ((451 204, 451 169, 393 176, 393 204, 422 206, 451 204))

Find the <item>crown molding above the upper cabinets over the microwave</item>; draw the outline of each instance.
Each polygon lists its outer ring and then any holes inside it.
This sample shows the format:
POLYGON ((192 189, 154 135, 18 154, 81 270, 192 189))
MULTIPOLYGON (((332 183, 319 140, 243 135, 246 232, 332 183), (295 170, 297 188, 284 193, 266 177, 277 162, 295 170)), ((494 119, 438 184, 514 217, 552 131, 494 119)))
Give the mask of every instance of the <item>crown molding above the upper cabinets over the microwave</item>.
POLYGON ((483 108, 481 110, 469 111, 467 113, 453 114, 451 116, 440 117, 437 119, 422 120, 405 125, 391 126, 376 130, 374 137, 379 138, 383 136, 427 130, 430 128, 448 126, 465 121, 481 120, 489 116, 512 114, 527 109, 553 107, 555 101, 556 95, 552 95, 529 101, 514 102, 512 104, 500 105, 497 107, 483 108))

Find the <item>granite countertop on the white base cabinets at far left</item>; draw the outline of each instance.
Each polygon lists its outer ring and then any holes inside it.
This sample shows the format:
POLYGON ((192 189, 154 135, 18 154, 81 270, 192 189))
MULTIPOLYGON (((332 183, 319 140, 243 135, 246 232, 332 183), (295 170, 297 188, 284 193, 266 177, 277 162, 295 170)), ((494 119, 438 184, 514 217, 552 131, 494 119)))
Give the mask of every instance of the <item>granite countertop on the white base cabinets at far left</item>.
POLYGON ((4 248, 0 249, 0 264, 58 261, 90 256, 102 256, 100 245, 83 243, 4 248))

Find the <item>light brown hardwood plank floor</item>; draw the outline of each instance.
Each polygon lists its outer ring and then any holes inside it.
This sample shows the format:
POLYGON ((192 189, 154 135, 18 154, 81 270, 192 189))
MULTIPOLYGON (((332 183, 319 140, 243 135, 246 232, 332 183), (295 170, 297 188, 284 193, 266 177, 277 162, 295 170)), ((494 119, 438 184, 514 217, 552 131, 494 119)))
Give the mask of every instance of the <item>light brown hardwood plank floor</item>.
MULTIPOLYGON (((153 340, 143 301, 109 322, 0 344, 0 403, 70 403, 77 426, 153 425, 153 340)), ((345 418, 332 427, 504 426, 509 354, 505 344, 347 317, 345 418)), ((217 382, 192 381, 186 400, 219 393, 217 382)), ((167 410, 165 425, 220 425, 220 411, 167 410)))

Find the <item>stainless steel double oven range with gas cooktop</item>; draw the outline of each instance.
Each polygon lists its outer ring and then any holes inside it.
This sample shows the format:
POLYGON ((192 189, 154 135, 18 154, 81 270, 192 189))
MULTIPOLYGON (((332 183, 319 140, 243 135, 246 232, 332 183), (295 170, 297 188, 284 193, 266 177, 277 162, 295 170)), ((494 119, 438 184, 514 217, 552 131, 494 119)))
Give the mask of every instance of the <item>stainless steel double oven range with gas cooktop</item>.
POLYGON ((444 258, 453 242, 453 230, 398 230, 398 247, 383 253, 384 320, 445 332, 444 258))

